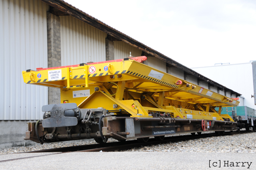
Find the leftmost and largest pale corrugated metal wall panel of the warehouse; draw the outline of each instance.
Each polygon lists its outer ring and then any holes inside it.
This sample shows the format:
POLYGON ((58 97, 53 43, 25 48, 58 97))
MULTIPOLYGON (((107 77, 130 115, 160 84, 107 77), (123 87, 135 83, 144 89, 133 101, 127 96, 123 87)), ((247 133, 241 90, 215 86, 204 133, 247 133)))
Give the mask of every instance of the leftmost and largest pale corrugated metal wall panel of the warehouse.
POLYGON ((0 1, 0 120, 37 120, 48 88, 25 84, 22 71, 47 67, 48 5, 39 0, 0 1))

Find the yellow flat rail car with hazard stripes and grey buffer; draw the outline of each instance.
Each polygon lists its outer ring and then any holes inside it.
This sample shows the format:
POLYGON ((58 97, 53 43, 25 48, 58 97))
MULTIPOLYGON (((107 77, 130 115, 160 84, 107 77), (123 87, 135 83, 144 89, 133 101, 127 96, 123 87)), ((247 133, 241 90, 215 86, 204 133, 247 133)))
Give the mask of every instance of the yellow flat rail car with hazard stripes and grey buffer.
POLYGON ((237 129, 221 108, 238 101, 142 64, 146 59, 23 71, 26 84, 60 88, 61 100, 42 107, 43 120, 28 123, 25 140, 147 142, 152 136, 237 129))

